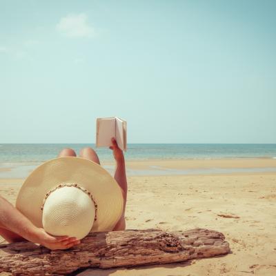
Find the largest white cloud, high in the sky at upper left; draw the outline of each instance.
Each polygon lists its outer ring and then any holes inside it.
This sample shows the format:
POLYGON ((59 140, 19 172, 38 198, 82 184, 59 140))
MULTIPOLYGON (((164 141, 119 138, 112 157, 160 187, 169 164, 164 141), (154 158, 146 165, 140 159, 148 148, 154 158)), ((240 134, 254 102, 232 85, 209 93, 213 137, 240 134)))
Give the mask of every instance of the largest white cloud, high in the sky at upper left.
POLYGON ((62 17, 56 26, 57 30, 66 37, 91 37, 94 28, 89 26, 86 14, 68 14, 62 17))

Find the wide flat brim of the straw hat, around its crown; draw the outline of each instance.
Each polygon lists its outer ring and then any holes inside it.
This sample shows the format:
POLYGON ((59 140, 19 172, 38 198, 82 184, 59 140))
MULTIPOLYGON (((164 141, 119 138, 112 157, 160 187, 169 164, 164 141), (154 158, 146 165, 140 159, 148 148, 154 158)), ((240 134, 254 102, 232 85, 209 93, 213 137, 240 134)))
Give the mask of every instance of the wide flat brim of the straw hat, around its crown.
POLYGON ((19 190, 17 209, 35 226, 43 227, 43 199, 49 190, 64 182, 72 182, 86 188, 95 198, 97 221, 90 232, 113 230, 124 209, 121 188, 107 170, 81 157, 59 157, 37 167, 19 190))

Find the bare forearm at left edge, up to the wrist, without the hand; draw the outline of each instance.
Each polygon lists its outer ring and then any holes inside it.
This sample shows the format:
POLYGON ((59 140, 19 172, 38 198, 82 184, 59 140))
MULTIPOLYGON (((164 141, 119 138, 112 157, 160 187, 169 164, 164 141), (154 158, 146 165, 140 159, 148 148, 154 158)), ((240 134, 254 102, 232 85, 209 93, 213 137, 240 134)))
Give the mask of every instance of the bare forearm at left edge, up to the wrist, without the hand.
POLYGON ((30 242, 38 242, 39 228, 3 197, 0 197, 0 227, 17 233, 30 242))

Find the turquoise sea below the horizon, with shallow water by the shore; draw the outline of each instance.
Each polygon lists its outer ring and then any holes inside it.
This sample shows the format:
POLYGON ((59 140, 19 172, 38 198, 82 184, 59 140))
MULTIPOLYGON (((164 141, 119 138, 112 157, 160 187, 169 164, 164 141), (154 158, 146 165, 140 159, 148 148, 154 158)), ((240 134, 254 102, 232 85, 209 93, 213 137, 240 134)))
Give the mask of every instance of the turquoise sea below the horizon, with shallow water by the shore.
MULTIPOLYGON (((79 150, 87 146, 95 148, 95 144, 0 144, 0 177, 26 177, 28 172, 43 161, 57 157, 63 148, 73 148, 78 155, 79 150)), ((101 161, 113 161, 112 151, 109 148, 96 148, 95 150, 101 161)), ((128 144, 125 157, 128 161, 253 157, 276 159, 276 144, 128 144)), ((108 167, 106 169, 112 170, 108 167)), ((214 172, 214 169, 212 172, 214 172)), ((266 171, 276 171, 276 168, 267 168, 266 171)), ((148 175, 152 172, 157 175, 164 174, 164 170, 152 168, 148 172, 129 170, 128 175, 139 175, 141 173, 148 175)), ((188 174, 195 173, 195 171, 182 170, 178 172, 175 170, 173 172, 173 174, 177 173, 188 174)), ((197 173, 200 173, 200 171, 197 171, 197 173)), ((172 174, 171 170, 170 174, 172 174)))

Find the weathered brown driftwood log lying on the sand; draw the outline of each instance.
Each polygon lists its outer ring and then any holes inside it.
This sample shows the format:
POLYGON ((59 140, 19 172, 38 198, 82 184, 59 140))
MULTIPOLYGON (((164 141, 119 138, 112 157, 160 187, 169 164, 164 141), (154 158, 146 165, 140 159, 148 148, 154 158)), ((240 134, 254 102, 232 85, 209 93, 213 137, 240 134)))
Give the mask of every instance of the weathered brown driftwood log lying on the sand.
POLYGON ((224 235, 207 229, 98 232, 90 233, 81 244, 68 250, 49 250, 30 242, 2 244, 0 273, 64 275, 79 268, 167 264, 229 252, 224 235))

